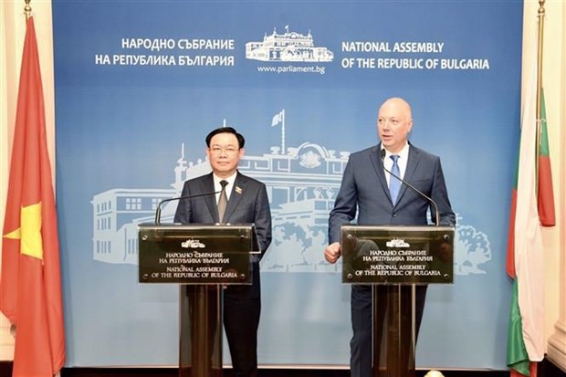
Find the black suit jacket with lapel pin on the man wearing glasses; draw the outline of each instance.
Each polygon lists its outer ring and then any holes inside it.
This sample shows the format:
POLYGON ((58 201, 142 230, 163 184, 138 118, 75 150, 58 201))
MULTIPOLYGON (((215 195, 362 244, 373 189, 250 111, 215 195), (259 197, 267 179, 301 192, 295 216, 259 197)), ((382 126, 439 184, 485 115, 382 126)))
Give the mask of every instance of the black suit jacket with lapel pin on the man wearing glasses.
MULTIPOLYGON (((213 173, 189 181, 183 185, 182 196, 215 192, 213 173)), ((214 194, 182 199, 179 201, 174 217, 175 223, 215 224, 218 223, 218 206, 214 194)), ((266 185, 244 174, 237 173, 228 205, 225 210, 225 223, 256 225, 261 255, 253 258, 253 284, 249 286, 230 286, 226 293, 239 292, 250 297, 259 296, 259 260, 271 243, 271 211, 267 198, 266 185)))

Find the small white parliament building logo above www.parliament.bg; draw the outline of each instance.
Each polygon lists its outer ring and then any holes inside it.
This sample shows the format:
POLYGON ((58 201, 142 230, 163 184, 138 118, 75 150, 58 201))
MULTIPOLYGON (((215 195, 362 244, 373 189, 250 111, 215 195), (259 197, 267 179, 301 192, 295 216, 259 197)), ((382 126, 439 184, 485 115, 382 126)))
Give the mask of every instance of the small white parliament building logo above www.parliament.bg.
POLYGON ((265 35, 261 42, 246 43, 246 58, 261 61, 330 62, 334 54, 327 47, 316 47, 312 34, 289 31, 265 35))

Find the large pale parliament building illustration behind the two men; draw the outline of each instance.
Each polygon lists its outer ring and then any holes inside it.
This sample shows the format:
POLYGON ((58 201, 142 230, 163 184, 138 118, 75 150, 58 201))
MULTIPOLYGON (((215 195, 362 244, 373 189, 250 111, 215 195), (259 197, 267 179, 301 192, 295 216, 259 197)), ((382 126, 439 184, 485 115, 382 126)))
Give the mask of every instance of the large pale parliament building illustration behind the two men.
MULTIPOLYGON (((272 124, 283 122, 284 110, 272 124)), ((284 134, 284 132, 282 132, 284 134)), ((273 242, 263 257, 263 272, 340 273, 341 263, 324 260, 328 245, 328 218, 350 152, 334 151, 316 143, 303 142, 297 147, 270 147, 261 155, 245 155, 238 170, 266 183, 273 217, 273 242)), ((169 189, 115 188, 92 198, 92 258, 101 263, 138 264, 138 228, 154 223, 155 211, 164 199, 181 194, 183 183, 211 168, 206 158, 187 162, 184 144, 173 168, 169 189)), ((177 201, 162 205, 161 224, 173 223, 177 201)), ((474 226, 456 227, 454 273, 485 274, 481 265, 492 259, 487 235, 474 226)))

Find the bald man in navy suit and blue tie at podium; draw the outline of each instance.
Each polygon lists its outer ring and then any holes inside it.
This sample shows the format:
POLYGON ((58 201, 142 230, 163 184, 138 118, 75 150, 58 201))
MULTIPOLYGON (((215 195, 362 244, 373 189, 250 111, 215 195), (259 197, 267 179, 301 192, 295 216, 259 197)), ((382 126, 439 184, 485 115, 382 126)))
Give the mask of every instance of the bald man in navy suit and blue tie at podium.
MULTIPOLYGON (((442 173, 440 159, 420 150, 407 140, 413 127, 410 105, 400 98, 387 99, 377 119, 378 145, 352 153, 342 177, 341 189, 329 218, 329 246, 324 257, 336 263, 341 256, 341 225, 357 216, 360 225, 426 225, 427 211, 435 218, 435 208, 422 195, 400 184, 393 173, 431 197, 438 205, 440 225, 455 225, 442 173), (382 158, 383 156, 383 158, 382 158), (396 164, 397 166, 393 167, 396 164), (398 170, 396 170, 398 169, 398 170), (397 185, 396 198, 390 184, 397 185)), ((378 289, 386 290, 383 286, 378 289)), ((416 287, 415 327, 418 328, 425 307, 426 286, 416 287)), ((381 296, 381 295, 380 295, 381 296)), ((351 376, 372 374, 372 287, 351 286, 351 376)), ((376 361, 377 362, 377 361, 376 361)))

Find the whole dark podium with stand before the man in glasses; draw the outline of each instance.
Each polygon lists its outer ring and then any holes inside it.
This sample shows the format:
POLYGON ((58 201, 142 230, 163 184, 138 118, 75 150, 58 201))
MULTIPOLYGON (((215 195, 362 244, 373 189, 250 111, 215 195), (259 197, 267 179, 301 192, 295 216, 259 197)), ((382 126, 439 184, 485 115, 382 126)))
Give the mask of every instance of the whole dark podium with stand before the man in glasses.
POLYGON ((256 227, 138 225, 139 282, 178 284, 179 376, 222 376, 222 292, 251 284, 256 227))

